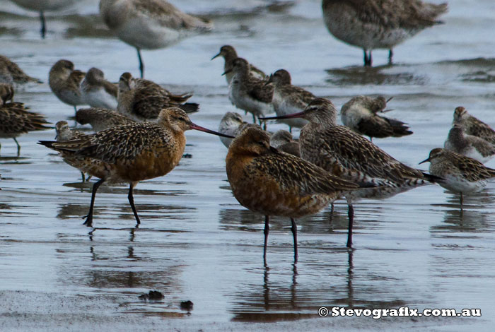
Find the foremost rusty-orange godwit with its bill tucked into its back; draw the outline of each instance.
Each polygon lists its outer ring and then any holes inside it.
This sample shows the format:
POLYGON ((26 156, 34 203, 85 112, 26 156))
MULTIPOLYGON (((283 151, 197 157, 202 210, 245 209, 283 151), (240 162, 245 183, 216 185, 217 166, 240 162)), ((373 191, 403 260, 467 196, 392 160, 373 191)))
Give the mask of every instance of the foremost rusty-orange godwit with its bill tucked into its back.
POLYGON ((294 262, 297 262, 295 218, 317 213, 343 190, 359 188, 354 182, 270 147, 268 134, 257 128, 246 129, 232 141, 228 148, 226 171, 233 195, 239 203, 265 215, 265 264, 270 215, 291 218, 294 262))

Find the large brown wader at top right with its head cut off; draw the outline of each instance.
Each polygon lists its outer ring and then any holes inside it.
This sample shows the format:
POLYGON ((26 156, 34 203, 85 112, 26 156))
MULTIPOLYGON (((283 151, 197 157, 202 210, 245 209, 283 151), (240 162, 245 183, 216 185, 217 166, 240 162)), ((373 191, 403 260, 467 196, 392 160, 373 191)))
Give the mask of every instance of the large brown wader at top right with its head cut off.
POLYGON ((330 33, 361 47, 364 65, 371 66, 373 49, 388 49, 392 64, 392 48, 425 28, 443 23, 438 16, 448 6, 420 0, 323 0, 322 9, 330 33))

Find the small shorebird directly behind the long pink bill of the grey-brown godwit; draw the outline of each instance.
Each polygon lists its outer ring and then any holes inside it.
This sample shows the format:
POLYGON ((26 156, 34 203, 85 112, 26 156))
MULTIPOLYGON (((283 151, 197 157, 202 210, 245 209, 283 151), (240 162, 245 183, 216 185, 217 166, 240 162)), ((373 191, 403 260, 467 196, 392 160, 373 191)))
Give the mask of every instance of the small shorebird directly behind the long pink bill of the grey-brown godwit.
MULTIPOLYGON (((268 82, 274 83, 272 103, 279 117, 302 112, 316 98, 313 93, 292 85, 291 74, 285 69, 272 73, 268 82)), ((292 127, 302 128, 308 123, 305 119, 281 119, 280 121, 289 126, 290 132, 292 132, 292 127)))

